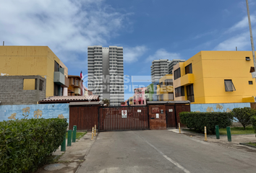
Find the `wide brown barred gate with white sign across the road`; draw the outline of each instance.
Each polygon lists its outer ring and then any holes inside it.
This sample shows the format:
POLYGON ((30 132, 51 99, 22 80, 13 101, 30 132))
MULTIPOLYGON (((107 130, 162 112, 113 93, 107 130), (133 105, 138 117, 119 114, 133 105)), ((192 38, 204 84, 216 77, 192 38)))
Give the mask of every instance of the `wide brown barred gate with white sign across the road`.
POLYGON ((148 107, 100 107, 99 131, 149 129, 148 107), (122 116, 122 111, 124 115, 122 116), (125 116, 127 112, 127 116, 125 116))

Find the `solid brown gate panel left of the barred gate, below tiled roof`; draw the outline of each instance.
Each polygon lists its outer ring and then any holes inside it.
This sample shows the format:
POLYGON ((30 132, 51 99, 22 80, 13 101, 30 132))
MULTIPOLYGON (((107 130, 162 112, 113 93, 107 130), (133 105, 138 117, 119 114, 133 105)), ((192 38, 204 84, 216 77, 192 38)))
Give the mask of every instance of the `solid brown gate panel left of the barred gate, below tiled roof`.
POLYGON ((69 130, 77 125, 77 130, 92 130, 98 125, 98 107, 100 105, 69 106, 69 130))

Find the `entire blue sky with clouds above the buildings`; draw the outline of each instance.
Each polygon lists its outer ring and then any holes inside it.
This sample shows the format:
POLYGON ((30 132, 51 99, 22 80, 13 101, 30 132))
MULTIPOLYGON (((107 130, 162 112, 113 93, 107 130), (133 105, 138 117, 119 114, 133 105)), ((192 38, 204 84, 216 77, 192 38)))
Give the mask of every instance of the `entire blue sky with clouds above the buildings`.
MULTIPOLYGON (((69 68, 88 74, 88 45, 124 47, 124 75, 148 86, 155 59, 201 50, 252 50, 245 0, 0 0, 0 41, 48 45, 69 68)), ((256 37, 256 1, 249 0, 256 37)), ((256 39, 255 39, 256 41, 256 39)), ((128 84, 132 84, 129 82, 128 84)), ((125 99, 132 89, 125 90, 125 99)))

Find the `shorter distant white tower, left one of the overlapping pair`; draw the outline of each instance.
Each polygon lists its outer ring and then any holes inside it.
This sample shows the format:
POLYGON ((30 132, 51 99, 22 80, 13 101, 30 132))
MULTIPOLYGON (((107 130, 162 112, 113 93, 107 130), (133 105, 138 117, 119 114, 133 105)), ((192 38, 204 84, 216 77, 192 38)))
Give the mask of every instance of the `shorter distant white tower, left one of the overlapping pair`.
POLYGON ((161 79, 161 77, 168 74, 168 59, 160 59, 152 61, 151 67, 151 81, 155 82, 161 79))

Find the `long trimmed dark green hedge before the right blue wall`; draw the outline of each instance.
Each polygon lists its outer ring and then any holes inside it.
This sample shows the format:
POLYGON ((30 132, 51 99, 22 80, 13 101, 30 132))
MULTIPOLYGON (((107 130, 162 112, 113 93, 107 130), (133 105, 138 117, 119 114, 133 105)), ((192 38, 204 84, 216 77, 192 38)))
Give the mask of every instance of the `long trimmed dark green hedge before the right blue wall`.
POLYGON ((181 112, 179 117, 181 123, 187 125, 187 128, 203 132, 206 126, 208 133, 213 134, 216 133, 216 125, 219 128, 226 128, 233 121, 231 112, 181 112))

